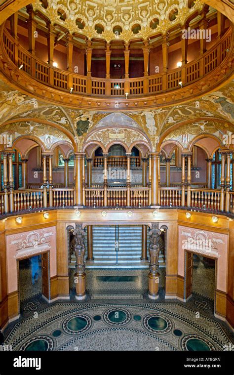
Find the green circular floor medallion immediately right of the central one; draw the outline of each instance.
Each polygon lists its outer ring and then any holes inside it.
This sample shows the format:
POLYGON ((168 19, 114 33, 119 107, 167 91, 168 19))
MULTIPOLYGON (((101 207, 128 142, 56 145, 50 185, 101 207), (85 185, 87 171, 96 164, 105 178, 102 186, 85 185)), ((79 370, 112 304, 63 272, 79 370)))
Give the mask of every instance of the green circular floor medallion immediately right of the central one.
POLYGON ((153 333, 167 333, 171 330, 172 323, 164 315, 149 314, 144 318, 144 327, 153 333))

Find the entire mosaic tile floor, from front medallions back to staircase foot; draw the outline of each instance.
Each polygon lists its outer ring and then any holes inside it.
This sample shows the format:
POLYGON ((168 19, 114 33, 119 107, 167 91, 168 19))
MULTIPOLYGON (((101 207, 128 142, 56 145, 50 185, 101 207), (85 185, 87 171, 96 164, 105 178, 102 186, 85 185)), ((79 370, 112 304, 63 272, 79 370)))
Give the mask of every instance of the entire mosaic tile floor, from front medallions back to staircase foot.
MULTIPOLYGON (((207 269, 198 267, 204 278, 207 269)), ((214 300, 203 290, 198 293, 197 287, 186 303, 164 299, 163 268, 156 301, 148 298, 146 269, 87 270, 84 301, 75 300, 74 269, 70 272, 68 301, 48 304, 29 290, 29 298, 21 301, 20 319, 4 331, 12 350, 194 351, 234 344, 234 333, 214 317, 214 300)))

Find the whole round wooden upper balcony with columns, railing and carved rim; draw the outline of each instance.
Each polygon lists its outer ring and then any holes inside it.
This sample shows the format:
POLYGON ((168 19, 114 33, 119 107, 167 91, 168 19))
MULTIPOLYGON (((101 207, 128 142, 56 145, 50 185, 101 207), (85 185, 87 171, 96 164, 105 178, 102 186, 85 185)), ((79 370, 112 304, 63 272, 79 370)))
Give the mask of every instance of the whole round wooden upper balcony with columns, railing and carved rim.
MULTIPOLYGON (((53 66, 53 61, 42 61, 35 54, 35 45, 30 42, 28 51, 19 38, 9 30, 9 21, 0 29, 0 71, 14 86, 34 97, 46 99, 70 107, 82 107, 97 110, 136 110, 156 108, 163 105, 181 103, 215 89, 228 81, 233 72, 233 29, 223 28, 216 42, 193 61, 187 62, 188 41, 181 39, 182 66, 168 69, 167 38, 162 38, 162 73, 149 75, 150 42, 141 41, 143 47, 142 64, 144 77, 129 77, 129 45, 124 49, 124 78, 111 78, 111 44, 105 44, 106 78, 92 77, 92 44, 86 41, 86 67, 81 75, 72 71, 74 48, 72 36, 66 39, 67 70, 53 66), (7 26, 8 25, 8 26, 7 26), (7 27, 6 27, 7 26, 7 27), (164 42, 163 42, 164 41, 164 42), (70 43, 70 44, 69 44, 70 43), (184 45, 183 45, 184 43, 184 45), (73 45, 73 47, 71 47, 73 45), (33 49, 32 49, 33 48, 33 49), (127 53, 126 53, 127 52, 127 53)), ((12 23, 12 22, 11 22, 12 23)), ((36 30, 36 29, 35 29, 36 30)), ((48 37, 51 38, 51 37, 48 37)), ((48 39, 49 41, 49 39, 48 39)), ((199 42, 199 41, 198 41, 199 42)), ((35 42, 34 42, 35 43, 35 42)), ((200 42, 202 45, 202 43, 200 42)), ((41 52, 41 55, 43 53, 41 52)), ((48 51, 48 55, 51 50, 48 51)), ((83 56, 84 57, 84 56, 83 56)))

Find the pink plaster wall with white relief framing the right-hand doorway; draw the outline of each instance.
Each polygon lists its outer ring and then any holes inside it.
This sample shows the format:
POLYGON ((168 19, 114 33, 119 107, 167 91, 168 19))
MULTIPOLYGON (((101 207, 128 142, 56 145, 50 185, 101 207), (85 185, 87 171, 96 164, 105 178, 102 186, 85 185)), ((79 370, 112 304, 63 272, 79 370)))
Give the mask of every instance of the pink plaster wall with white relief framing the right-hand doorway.
POLYGON ((227 292, 228 235, 183 226, 178 228, 178 274, 182 277, 185 276, 185 250, 203 256, 212 256, 217 259, 216 289, 221 292, 227 292), (204 238, 207 241, 202 242, 202 249, 199 248, 199 245, 195 246, 195 241, 199 238, 204 238), (192 246, 190 245, 191 243, 192 246), (195 250, 193 249, 194 246, 195 250))

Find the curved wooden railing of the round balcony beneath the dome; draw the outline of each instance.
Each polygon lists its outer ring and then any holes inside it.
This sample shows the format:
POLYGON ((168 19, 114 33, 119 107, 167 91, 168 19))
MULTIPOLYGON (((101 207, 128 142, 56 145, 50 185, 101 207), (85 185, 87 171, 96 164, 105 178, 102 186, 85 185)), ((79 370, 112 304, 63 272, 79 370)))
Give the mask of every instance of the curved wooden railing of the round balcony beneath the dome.
POLYGON ((142 96, 178 89, 181 81, 185 86, 209 74, 224 61, 231 49, 232 28, 210 50, 181 68, 149 77, 121 80, 86 77, 49 66, 18 45, 6 28, 3 30, 3 45, 9 59, 17 67, 22 64, 22 71, 40 83, 63 91, 73 87, 73 93, 82 95, 121 98, 126 92, 130 96, 142 96))

